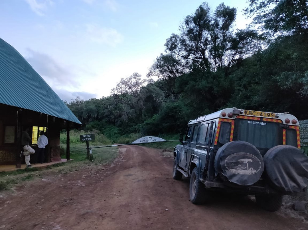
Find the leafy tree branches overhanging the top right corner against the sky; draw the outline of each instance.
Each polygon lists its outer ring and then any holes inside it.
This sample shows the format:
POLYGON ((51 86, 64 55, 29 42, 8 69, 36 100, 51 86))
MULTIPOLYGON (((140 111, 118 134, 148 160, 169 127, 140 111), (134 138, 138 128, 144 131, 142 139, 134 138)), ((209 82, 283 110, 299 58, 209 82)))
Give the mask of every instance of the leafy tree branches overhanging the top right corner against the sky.
POLYGON ((249 0, 244 10, 254 24, 274 34, 301 34, 308 29, 307 0, 249 0))

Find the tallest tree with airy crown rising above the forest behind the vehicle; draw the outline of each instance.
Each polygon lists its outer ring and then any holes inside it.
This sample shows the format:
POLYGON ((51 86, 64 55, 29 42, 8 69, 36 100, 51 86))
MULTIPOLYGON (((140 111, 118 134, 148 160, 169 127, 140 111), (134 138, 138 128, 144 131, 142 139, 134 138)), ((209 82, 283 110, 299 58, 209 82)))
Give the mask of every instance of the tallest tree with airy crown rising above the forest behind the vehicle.
MULTIPOLYGON (((212 13, 207 3, 187 16, 180 26, 180 34, 172 34, 165 44, 166 52, 182 65, 197 65, 204 71, 231 66, 249 56, 258 46, 251 46, 251 38, 259 40, 254 30, 233 31, 236 9, 221 3, 212 13)), ((253 42, 254 43, 254 42, 253 42)))

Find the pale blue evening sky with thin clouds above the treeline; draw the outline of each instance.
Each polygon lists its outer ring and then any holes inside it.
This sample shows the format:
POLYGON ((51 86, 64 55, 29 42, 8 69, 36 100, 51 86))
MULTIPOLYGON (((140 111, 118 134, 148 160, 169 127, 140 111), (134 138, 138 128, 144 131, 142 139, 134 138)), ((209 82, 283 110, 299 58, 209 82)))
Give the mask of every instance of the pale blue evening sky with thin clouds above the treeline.
MULTIPOLYGON (((107 97, 121 78, 148 69, 164 53, 197 0, 0 0, 0 38, 13 46, 63 100, 107 97)), ((224 2, 237 9, 236 28, 249 20, 246 0, 224 2)), ((153 78, 154 80, 157 80, 153 78)))

